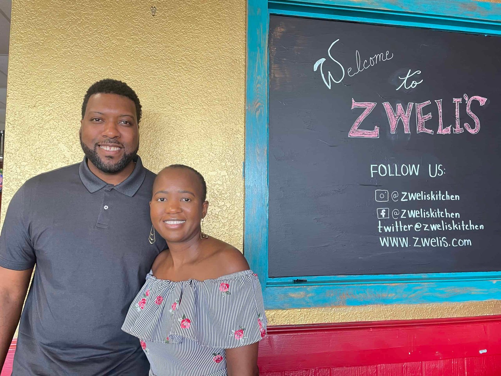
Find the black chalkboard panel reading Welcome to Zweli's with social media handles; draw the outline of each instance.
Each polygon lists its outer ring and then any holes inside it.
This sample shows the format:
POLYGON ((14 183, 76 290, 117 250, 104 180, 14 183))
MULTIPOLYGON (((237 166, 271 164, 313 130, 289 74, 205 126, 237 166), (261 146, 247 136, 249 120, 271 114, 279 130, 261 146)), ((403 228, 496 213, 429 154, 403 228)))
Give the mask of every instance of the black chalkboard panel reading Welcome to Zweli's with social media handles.
POLYGON ((501 38, 270 17, 269 276, 501 270, 501 38))

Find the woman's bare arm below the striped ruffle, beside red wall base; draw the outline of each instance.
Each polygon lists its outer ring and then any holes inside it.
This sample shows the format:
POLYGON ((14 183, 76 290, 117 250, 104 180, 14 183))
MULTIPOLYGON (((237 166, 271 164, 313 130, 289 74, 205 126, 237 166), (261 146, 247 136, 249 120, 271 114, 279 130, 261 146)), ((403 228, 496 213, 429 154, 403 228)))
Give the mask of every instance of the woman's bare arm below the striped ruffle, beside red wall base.
POLYGON ((259 342, 225 350, 228 376, 259 376, 259 342))

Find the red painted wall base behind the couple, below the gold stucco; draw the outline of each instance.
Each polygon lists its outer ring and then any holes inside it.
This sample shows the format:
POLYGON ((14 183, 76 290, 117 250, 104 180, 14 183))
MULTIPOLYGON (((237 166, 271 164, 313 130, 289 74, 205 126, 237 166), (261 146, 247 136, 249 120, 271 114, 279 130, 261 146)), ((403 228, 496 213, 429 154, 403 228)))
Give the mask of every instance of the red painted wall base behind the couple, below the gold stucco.
MULTIPOLYGON (((501 376, 501 316, 275 326, 261 376, 501 376)), ((10 376, 13 341, 0 376, 10 376)))

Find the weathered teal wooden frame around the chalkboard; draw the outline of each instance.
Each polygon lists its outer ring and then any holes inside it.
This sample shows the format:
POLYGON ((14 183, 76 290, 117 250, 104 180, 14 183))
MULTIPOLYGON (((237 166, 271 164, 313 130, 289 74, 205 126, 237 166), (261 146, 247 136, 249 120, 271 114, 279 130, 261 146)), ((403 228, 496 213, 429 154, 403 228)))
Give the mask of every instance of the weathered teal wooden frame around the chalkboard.
POLYGON ((501 36, 501 4, 470 0, 248 0, 244 254, 267 309, 501 299, 501 272, 268 277, 270 15, 501 36), (295 283, 294 279, 307 280, 295 283))

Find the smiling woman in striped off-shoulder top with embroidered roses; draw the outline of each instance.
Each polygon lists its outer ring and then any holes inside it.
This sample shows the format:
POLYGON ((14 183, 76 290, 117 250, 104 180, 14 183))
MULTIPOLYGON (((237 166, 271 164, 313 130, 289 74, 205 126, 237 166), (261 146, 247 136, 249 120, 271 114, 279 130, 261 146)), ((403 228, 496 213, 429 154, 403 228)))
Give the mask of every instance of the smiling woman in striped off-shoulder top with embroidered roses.
POLYGON ((179 164, 153 184, 151 222, 168 249, 153 262, 122 326, 140 339, 150 375, 259 375, 261 285, 237 249, 201 231, 206 190, 199 172, 179 164))

